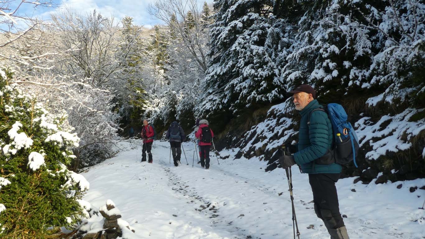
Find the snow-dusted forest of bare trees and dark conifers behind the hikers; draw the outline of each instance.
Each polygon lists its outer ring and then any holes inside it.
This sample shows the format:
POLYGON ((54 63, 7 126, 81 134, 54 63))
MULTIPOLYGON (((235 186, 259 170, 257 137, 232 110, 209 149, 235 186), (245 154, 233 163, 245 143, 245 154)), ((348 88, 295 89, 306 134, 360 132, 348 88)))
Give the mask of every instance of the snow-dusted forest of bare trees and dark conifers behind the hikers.
POLYGON ((365 135, 361 171, 414 178, 424 175, 424 9, 419 0, 159 0, 149 11, 164 24, 152 29, 63 9, 26 30, 3 28, 0 57, 13 83, 69 115, 81 138, 75 170, 115 154, 115 137, 138 133, 143 118, 159 138, 174 120, 190 134, 206 118, 219 149, 270 159, 276 142, 296 138, 298 119, 291 104, 272 109, 307 83, 365 135))

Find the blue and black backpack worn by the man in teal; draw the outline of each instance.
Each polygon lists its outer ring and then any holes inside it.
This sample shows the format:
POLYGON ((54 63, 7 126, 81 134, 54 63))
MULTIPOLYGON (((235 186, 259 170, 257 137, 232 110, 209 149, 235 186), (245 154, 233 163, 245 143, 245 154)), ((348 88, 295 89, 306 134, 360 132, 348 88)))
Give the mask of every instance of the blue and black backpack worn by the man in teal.
POLYGON ((333 151, 335 163, 344 165, 353 161, 354 166, 358 168, 356 155, 357 151, 359 151, 359 139, 353 126, 347 121, 347 113, 343 106, 331 103, 325 109, 317 108, 312 110, 312 112, 317 110, 325 111, 331 120, 334 132, 334 147, 331 151, 333 151))

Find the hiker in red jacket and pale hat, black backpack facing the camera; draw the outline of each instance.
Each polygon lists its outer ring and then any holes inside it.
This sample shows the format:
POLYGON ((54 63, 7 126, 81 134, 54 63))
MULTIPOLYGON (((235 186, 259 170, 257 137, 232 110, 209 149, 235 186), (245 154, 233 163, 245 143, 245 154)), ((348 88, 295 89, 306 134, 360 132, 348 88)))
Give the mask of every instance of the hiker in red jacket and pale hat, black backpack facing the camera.
POLYGON ((210 147, 212 137, 214 137, 209 125, 207 119, 201 119, 198 131, 195 133, 195 137, 199 138, 199 148, 201 148, 201 167, 206 169, 210 168, 210 147))

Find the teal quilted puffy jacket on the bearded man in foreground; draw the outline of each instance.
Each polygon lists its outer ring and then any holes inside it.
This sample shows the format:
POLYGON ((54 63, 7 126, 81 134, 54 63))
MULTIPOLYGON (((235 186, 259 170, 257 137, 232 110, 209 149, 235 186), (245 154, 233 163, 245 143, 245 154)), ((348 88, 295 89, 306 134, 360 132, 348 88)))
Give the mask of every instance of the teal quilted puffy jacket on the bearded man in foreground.
POLYGON ((313 100, 300 111, 298 152, 294 154, 294 159, 297 165, 301 166, 303 173, 338 174, 342 170, 339 164, 321 165, 314 163, 315 159, 320 158, 328 152, 333 142, 331 120, 324 111, 312 112, 312 110, 317 108, 323 108, 323 106, 317 100, 313 100), (310 123, 308 124, 309 117, 310 123))

